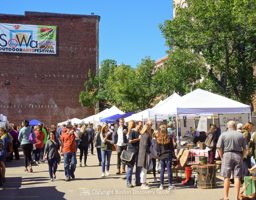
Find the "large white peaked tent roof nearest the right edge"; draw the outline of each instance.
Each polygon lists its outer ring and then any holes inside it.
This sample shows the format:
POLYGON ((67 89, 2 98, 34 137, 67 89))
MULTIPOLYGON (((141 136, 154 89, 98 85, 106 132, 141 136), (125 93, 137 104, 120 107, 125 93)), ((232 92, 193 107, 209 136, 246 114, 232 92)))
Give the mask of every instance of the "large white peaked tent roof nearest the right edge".
POLYGON ((250 113, 251 107, 202 89, 196 89, 182 96, 177 106, 180 114, 224 114, 224 113, 250 113))

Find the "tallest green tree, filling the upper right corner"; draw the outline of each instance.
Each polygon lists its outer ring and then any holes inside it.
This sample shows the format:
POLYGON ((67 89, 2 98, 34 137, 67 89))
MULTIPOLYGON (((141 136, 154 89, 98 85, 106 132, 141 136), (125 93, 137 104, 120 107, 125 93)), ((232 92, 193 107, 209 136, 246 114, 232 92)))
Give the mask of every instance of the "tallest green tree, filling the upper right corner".
POLYGON ((202 87, 249 104, 255 93, 254 0, 187 0, 159 28, 170 50, 193 49, 208 66, 202 87))

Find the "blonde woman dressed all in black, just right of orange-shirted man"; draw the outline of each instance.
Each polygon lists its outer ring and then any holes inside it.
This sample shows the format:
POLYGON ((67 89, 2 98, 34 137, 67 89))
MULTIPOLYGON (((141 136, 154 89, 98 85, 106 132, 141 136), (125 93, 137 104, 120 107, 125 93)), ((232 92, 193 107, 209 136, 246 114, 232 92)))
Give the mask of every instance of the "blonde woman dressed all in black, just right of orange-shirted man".
POLYGON ((82 167, 82 158, 84 155, 84 166, 86 165, 87 160, 87 151, 89 148, 89 133, 86 131, 86 126, 82 126, 79 134, 79 142, 78 142, 78 149, 80 149, 80 157, 79 157, 79 166, 82 167))

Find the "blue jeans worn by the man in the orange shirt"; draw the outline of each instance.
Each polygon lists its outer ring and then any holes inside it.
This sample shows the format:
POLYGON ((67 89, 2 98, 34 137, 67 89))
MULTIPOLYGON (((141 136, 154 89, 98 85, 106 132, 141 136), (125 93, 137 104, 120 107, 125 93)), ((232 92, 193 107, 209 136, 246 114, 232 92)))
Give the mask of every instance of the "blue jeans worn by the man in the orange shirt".
POLYGON ((64 157, 64 171, 66 178, 70 178, 71 174, 73 174, 76 170, 76 152, 73 153, 63 153, 64 157), (69 168, 69 165, 71 166, 69 168))

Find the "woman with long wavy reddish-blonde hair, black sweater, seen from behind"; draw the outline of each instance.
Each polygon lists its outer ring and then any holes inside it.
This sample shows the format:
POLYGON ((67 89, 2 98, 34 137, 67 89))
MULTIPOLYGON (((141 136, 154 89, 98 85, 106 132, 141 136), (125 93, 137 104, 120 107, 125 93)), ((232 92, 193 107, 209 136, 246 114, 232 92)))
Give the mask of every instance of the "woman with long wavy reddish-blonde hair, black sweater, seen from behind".
POLYGON ((168 181, 169 181, 169 189, 177 189, 174 185, 172 185, 172 158, 179 162, 179 159, 175 156, 173 143, 168 135, 167 128, 161 128, 160 135, 156 139, 156 151, 158 153, 158 157, 161 164, 161 174, 160 180, 161 185, 160 189, 164 189, 164 170, 165 170, 165 162, 167 165, 167 174, 168 174, 168 181))

